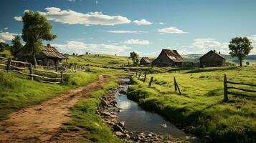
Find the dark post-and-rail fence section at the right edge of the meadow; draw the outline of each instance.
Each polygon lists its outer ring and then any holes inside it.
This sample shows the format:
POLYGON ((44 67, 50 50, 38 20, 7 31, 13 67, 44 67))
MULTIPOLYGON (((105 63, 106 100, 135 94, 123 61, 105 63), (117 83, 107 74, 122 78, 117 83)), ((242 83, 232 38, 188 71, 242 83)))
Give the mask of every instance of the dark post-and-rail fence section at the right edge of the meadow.
POLYGON ((245 86, 250 86, 250 87, 256 87, 256 84, 244 84, 244 83, 238 83, 238 82, 229 82, 229 81, 227 81, 226 74, 224 74, 224 102, 229 101, 228 94, 233 94, 233 95, 242 96, 242 97, 256 97, 256 96, 250 96, 247 94, 229 92, 228 89, 237 89, 237 90, 240 90, 243 92, 253 92, 253 93, 256 93, 256 90, 242 89, 242 88, 238 88, 238 87, 228 87, 227 84, 239 84, 239 85, 245 85, 245 86))

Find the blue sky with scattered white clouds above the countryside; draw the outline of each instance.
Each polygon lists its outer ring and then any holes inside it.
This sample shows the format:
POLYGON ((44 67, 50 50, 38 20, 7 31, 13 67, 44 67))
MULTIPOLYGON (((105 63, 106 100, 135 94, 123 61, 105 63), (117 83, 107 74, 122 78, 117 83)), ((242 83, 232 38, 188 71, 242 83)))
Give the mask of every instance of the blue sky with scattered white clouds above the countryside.
POLYGON ((247 36, 256 54, 255 0, 1 0, 0 42, 22 34, 24 11, 39 11, 62 53, 157 56, 229 53, 229 41, 247 36))

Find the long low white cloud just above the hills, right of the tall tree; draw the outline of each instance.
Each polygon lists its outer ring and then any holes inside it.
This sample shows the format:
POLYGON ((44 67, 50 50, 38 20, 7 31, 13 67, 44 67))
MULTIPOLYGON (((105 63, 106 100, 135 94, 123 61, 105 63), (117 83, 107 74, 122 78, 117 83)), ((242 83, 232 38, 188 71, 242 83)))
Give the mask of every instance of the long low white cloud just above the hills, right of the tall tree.
POLYGON ((85 52, 95 53, 95 54, 120 54, 129 49, 125 45, 116 44, 86 44, 82 41, 67 41, 66 44, 52 44, 52 46, 57 47, 62 53, 77 53, 85 54, 85 52))

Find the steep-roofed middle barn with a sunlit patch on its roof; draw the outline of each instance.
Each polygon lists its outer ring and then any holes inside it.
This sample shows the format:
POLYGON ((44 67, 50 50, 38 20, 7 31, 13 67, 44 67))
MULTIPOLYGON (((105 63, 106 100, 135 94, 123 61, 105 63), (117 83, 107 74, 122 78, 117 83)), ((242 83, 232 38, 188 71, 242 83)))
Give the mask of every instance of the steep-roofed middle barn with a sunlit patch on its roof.
POLYGON ((159 56, 152 61, 152 66, 182 66, 183 58, 176 50, 162 49, 159 56))

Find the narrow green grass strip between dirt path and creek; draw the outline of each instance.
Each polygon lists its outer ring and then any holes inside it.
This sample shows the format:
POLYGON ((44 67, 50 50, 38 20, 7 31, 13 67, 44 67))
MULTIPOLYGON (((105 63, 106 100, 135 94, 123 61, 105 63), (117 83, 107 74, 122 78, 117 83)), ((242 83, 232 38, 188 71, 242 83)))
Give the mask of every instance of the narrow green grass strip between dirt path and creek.
POLYGON ((66 122, 62 129, 66 132, 77 130, 83 132, 85 142, 120 142, 120 139, 113 136, 110 127, 103 122, 100 115, 95 114, 100 98, 116 86, 115 78, 111 77, 102 89, 90 93, 90 97, 86 99, 80 99, 71 109, 72 121, 66 122))

